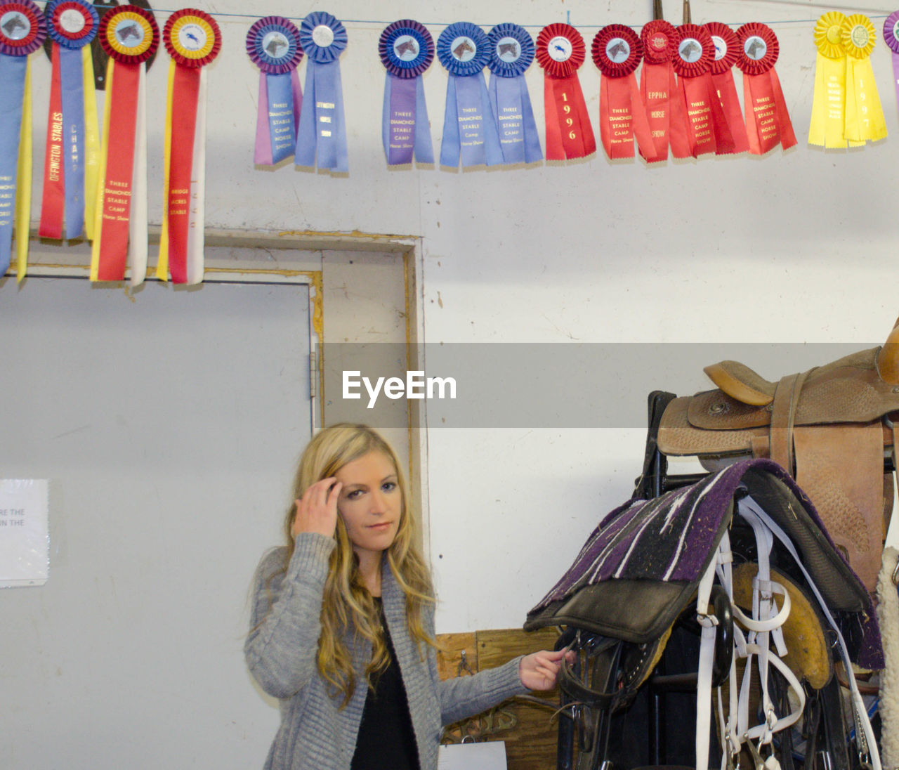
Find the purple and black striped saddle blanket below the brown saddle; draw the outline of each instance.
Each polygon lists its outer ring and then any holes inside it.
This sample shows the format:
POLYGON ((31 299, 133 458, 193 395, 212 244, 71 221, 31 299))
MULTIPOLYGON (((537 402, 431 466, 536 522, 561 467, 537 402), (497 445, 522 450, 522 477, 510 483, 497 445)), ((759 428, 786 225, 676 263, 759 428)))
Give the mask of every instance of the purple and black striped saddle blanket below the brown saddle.
MULTIPOLYGON (((734 511, 742 495, 752 496, 788 535, 839 625, 852 661, 882 668, 877 614, 865 586, 796 482, 768 460, 736 462, 689 487, 650 500, 631 499, 613 510, 530 610, 524 628, 565 625, 637 644, 659 639, 694 600, 699 578, 728 528, 734 559, 754 558, 754 542, 737 552, 734 511)), ((797 569, 789 569, 794 560, 777 542, 772 560, 804 582, 797 569)))

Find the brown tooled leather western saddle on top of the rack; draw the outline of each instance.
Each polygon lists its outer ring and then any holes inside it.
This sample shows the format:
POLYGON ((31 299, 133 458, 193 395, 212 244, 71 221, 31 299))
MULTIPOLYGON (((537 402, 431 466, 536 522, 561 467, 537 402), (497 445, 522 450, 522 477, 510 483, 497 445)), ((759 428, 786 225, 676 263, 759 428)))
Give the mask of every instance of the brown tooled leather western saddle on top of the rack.
POLYGON ((873 593, 893 507, 899 320, 886 345, 777 382, 734 361, 705 372, 717 389, 667 404, 659 451, 697 455, 708 470, 747 456, 778 462, 873 593))

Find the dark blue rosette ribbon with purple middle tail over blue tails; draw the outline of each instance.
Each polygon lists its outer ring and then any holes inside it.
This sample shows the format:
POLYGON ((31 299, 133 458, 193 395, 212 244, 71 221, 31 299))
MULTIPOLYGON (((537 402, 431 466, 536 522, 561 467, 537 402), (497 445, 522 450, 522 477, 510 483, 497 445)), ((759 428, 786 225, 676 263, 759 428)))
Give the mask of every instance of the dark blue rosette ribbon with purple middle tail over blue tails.
POLYGON ((381 137, 388 166, 433 163, 434 149, 424 102, 422 74, 434 60, 434 40, 423 24, 411 19, 393 22, 378 41, 387 68, 381 137))

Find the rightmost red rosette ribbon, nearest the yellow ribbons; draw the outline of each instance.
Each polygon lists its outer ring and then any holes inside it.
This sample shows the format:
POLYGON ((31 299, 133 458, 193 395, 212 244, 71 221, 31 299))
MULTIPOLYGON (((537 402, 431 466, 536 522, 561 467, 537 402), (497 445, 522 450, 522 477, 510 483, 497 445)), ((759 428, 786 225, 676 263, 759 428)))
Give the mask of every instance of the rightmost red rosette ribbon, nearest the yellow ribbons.
POLYGON ((752 155, 763 155, 781 145, 796 145, 787 103, 774 70, 779 46, 774 31, 750 22, 736 31, 740 55, 736 66, 743 71, 743 112, 752 155))

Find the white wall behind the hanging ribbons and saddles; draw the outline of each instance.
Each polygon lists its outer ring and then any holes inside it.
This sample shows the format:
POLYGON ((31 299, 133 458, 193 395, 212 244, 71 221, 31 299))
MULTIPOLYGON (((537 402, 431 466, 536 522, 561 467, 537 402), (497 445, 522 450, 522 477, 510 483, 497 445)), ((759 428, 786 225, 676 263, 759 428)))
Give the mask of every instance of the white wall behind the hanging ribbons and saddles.
MULTIPOLYGON (((670 21, 680 21, 680 0, 666 0, 664 6, 670 21)), ((297 21, 309 10, 373 20, 345 22, 350 37, 342 58, 349 121, 346 178, 292 167, 254 170, 258 78, 243 52, 254 19, 219 16, 225 43, 209 73, 207 223, 423 237, 427 342, 876 344, 897 314, 891 290, 899 149, 893 138, 852 152, 807 147, 812 29, 823 5, 694 3, 694 22, 735 27, 762 21, 776 31, 777 70, 799 139, 788 153, 706 157, 655 168, 639 161, 611 165, 600 154, 589 161, 515 170, 387 169, 380 146, 384 73, 377 42, 388 22, 418 19, 436 40, 443 25, 455 21, 480 23, 486 30, 494 23, 518 22, 530 25, 536 37, 543 25, 570 18, 589 50, 599 26, 642 24, 650 9, 648 0, 259 4, 259 15, 281 13, 297 21)), ((221 0, 215 11, 247 13, 247 8, 221 0)), ((892 71, 879 39, 886 13, 873 20, 878 31, 873 64, 887 127, 895 134, 892 71)), ((159 59, 148 78, 150 114, 157 116, 150 140, 151 194, 157 191, 151 221, 159 219, 161 197, 158 121, 165 54, 159 59)), ((48 68, 45 62, 34 67, 39 94, 48 68)), ((435 148, 446 80, 437 62, 424 76, 435 148)), ((581 80, 595 128, 599 74, 589 56, 581 80)), ((536 64, 528 83, 542 138, 542 72, 536 64)), ((36 136, 38 153, 42 141, 36 136)), ((699 389, 696 375, 692 387, 699 389)), ((658 385, 671 387, 665 381, 658 385)), ((587 404, 603 396, 584 393, 583 398, 587 404)), ((645 392, 633 398, 642 403, 645 392)), ((644 429, 641 424, 615 431, 461 431, 430 425, 430 549, 442 600, 438 630, 520 625, 599 516, 628 497, 640 468, 644 429)))

